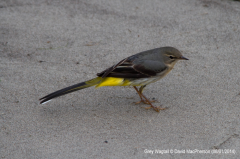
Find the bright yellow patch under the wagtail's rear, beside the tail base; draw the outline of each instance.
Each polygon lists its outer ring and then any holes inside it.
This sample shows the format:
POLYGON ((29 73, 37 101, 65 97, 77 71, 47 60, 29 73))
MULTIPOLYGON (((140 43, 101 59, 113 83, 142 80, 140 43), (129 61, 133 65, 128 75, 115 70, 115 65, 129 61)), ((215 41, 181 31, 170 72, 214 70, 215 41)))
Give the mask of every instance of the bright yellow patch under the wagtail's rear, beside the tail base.
POLYGON ((96 88, 104 86, 129 86, 130 84, 131 82, 129 80, 125 80, 124 78, 105 77, 99 84, 96 85, 96 88))

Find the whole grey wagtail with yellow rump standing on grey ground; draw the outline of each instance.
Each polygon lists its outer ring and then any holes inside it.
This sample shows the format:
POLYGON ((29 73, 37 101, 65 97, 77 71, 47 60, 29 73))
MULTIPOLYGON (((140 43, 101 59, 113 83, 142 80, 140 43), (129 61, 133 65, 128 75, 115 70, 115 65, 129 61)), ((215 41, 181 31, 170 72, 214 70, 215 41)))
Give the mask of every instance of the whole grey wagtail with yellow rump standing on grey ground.
POLYGON ((188 60, 180 51, 173 47, 160 47, 127 57, 112 67, 97 74, 98 77, 86 82, 63 88, 41 98, 40 104, 44 104, 53 98, 95 86, 133 86, 141 100, 138 103, 150 105, 146 109, 153 108, 155 111, 165 108, 155 107, 152 101, 143 95, 146 85, 156 82, 166 76, 179 60, 188 60), (140 86, 138 89, 137 86, 140 86))

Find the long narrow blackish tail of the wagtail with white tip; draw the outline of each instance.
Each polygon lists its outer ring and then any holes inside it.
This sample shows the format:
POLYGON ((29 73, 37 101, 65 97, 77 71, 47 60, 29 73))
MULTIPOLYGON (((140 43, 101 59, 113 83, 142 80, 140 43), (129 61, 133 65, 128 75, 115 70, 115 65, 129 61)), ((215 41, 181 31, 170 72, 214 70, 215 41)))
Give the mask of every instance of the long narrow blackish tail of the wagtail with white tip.
POLYGON ((51 93, 49 95, 46 95, 45 97, 42 97, 41 99, 39 99, 39 100, 41 100, 40 104, 45 104, 53 98, 56 98, 56 97, 59 97, 59 96, 62 96, 62 95, 65 95, 65 94, 68 94, 68 93, 71 93, 71 92, 75 92, 75 91, 78 91, 80 89, 84 89, 84 88, 87 88, 87 87, 97 85, 101 81, 102 81, 102 78, 97 77, 97 78, 91 79, 91 80, 86 81, 86 82, 78 83, 78 84, 72 85, 70 87, 63 88, 61 90, 53 92, 53 93, 51 93))

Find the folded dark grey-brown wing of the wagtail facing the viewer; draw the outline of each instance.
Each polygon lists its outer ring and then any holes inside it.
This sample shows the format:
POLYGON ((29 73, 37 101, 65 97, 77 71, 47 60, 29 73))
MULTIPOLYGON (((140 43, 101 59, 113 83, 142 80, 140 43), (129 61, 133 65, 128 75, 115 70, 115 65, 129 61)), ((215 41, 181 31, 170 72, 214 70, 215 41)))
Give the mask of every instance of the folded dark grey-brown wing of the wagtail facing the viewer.
POLYGON ((166 65, 152 59, 125 58, 116 65, 97 74, 99 77, 146 78, 167 69, 166 65))

